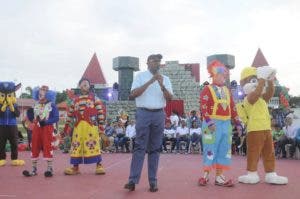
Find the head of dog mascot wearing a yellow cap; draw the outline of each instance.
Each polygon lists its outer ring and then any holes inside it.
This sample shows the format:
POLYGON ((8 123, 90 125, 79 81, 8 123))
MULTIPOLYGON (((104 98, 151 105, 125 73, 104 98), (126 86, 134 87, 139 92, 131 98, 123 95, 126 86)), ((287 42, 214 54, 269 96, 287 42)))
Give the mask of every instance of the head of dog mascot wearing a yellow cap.
POLYGON ((244 68, 241 72, 240 84, 243 87, 243 90, 246 95, 253 92, 258 85, 256 68, 254 67, 244 68))

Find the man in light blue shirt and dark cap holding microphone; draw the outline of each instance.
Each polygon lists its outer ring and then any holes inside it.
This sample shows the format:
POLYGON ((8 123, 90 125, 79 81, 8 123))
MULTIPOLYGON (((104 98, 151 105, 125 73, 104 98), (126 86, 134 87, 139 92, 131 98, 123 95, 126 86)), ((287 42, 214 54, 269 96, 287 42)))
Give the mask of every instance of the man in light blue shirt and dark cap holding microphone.
POLYGON ((136 102, 136 139, 132 154, 130 175, 124 188, 135 190, 143 168, 145 153, 148 153, 148 180, 150 191, 156 192, 159 152, 165 125, 164 107, 172 99, 170 79, 159 73, 162 55, 150 55, 148 70, 139 73, 132 82, 129 99, 136 102))

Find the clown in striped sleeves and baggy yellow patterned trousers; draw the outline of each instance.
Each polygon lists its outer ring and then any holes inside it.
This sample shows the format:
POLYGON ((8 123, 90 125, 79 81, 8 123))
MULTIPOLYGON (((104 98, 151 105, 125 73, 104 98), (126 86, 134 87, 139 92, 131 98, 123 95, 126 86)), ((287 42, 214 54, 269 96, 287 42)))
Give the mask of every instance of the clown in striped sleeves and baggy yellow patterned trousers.
POLYGON ((79 174, 79 164, 96 163, 96 174, 105 174, 101 165, 100 134, 104 133, 104 106, 98 98, 90 92, 88 79, 79 82, 81 94, 75 96, 69 108, 67 123, 64 128, 66 134, 71 132, 74 122, 71 144, 71 161, 73 167, 66 168, 66 175, 79 174))

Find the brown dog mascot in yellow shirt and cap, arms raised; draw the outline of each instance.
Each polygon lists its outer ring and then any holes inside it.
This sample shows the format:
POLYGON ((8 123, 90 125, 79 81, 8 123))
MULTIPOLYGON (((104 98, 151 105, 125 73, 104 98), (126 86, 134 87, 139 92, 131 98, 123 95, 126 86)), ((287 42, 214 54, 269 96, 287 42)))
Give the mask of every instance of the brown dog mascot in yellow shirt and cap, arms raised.
POLYGON ((269 66, 247 67, 241 73, 241 86, 246 94, 239 115, 247 128, 247 175, 238 178, 241 183, 256 184, 260 181, 257 164, 262 157, 266 172, 265 182, 287 184, 286 177, 275 173, 275 154, 271 121, 267 103, 274 95, 275 70, 269 66))

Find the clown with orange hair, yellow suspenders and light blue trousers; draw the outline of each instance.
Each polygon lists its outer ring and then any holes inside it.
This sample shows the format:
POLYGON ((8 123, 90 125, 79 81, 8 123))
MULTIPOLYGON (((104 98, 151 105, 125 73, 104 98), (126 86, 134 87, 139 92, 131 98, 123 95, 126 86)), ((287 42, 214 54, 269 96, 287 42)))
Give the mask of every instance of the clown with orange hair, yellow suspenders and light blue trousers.
POLYGON ((232 187, 233 181, 227 180, 223 171, 231 165, 231 119, 236 124, 240 122, 231 93, 225 85, 229 75, 228 69, 214 60, 207 70, 212 77, 212 83, 206 85, 200 94, 204 176, 198 183, 200 186, 206 186, 209 173, 215 169, 215 185, 232 187))

